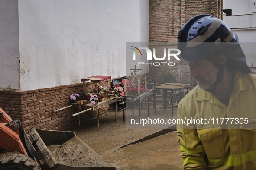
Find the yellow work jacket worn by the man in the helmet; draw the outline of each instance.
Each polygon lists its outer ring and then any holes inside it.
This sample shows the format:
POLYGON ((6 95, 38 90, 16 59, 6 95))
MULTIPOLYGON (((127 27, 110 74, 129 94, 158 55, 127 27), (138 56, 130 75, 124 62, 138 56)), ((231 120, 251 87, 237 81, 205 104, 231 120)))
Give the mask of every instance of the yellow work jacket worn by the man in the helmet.
POLYGON ((198 86, 180 101, 178 117, 182 119, 218 113, 222 117, 248 117, 249 122, 238 124, 236 129, 187 129, 177 125, 185 170, 256 170, 256 76, 236 72, 233 81, 228 106, 198 86))

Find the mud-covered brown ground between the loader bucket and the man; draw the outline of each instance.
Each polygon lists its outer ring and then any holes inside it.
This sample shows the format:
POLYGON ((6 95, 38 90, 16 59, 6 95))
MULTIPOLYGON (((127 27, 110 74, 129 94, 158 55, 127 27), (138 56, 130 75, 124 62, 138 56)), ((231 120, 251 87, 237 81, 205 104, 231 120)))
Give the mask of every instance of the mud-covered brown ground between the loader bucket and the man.
MULTIPOLYGON (((171 108, 165 111, 159 107, 160 105, 157 106, 157 115, 171 113, 171 108)), ((142 114, 147 114, 146 110, 146 107, 144 107, 142 114)), ((150 113, 150 115, 152 114, 150 113)), ((176 115, 177 110, 175 110, 176 115)), ((66 130, 74 131, 82 141, 104 158, 110 166, 116 167, 118 170, 181 169, 183 160, 180 157, 180 146, 176 132, 120 148, 161 129, 126 129, 123 113, 117 112, 116 122, 114 117, 114 111, 100 116, 99 131, 97 131, 97 119, 86 122, 87 124, 82 125, 80 128, 74 127, 66 130)))

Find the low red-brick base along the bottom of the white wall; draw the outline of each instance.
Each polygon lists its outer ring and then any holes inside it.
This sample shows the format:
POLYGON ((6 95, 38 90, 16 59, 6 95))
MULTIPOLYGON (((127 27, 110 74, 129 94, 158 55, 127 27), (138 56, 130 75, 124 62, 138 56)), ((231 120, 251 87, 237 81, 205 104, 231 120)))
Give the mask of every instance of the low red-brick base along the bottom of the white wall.
MULTIPOLYGON (((110 87, 110 80, 99 83, 104 88, 110 87)), ((93 90, 95 84, 85 83, 87 92, 93 90)), ((63 85, 52 88, 43 88, 30 91, 0 91, 0 107, 13 119, 19 119, 23 128, 29 132, 32 126, 40 129, 62 130, 71 126, 78 126, 78 116, 72 114, 77 110, 66 110, 52 113, 53 110, 69 105, 69 96, 73 93, 81 94, 83 86, 78 84, 63 85)), ((108 112, 114 107, 101 108, 100 114, 108 112)), ((81 124, 84 121, 97 117, 96 111, 89 111, 79 115, 81 124)))

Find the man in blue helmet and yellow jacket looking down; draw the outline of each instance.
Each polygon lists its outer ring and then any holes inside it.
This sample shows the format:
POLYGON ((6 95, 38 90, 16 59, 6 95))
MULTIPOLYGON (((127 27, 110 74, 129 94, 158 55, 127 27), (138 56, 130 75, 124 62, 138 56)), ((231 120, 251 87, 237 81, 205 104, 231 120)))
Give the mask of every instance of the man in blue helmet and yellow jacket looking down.
POLYGON ((256 169, 256 76, 237 35, 201 14, 181 28, 178 49, 198 83, 178 105, 184 169, 256 169))

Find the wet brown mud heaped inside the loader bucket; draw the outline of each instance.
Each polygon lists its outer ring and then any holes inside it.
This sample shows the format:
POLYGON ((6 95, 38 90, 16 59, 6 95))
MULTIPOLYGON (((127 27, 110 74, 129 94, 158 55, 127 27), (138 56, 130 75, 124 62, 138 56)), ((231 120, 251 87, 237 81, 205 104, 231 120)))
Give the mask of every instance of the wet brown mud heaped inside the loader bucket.
POLYGON ((48 146, 53 157, 60 164, 68 166, 108 166, 94 151, 79 144, 75 137, 62 145, 48 146))

